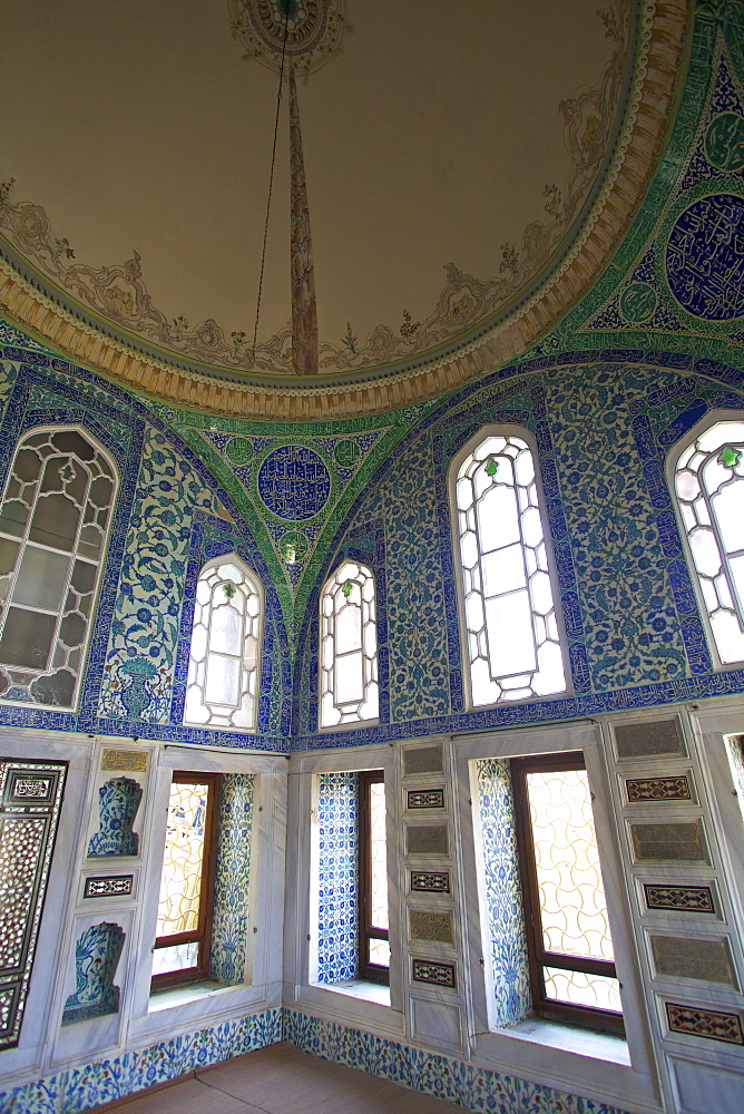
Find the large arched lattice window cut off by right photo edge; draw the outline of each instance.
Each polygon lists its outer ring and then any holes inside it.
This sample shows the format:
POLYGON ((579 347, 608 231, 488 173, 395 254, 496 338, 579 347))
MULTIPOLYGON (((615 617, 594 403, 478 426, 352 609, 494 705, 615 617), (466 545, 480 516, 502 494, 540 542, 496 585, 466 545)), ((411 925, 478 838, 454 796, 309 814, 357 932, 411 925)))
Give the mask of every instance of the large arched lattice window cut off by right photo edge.
POLYGON ((744 421, 719 421, 677 458, 674 491, 713 645, 744 662, 744 421))

